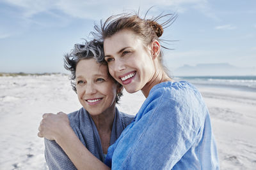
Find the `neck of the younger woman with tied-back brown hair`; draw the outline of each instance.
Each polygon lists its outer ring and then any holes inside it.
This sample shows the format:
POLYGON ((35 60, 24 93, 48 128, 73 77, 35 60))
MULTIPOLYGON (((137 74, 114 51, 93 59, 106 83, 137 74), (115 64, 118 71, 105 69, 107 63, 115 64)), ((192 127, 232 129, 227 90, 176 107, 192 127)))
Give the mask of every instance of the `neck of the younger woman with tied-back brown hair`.
POLYGON ((147 98, 152 87, 165 81, 173 81, 162 69, 156 69, 151 80, 141 89, 143 95, 147 98), (158 71, 157 71, 158 70, 158 71))

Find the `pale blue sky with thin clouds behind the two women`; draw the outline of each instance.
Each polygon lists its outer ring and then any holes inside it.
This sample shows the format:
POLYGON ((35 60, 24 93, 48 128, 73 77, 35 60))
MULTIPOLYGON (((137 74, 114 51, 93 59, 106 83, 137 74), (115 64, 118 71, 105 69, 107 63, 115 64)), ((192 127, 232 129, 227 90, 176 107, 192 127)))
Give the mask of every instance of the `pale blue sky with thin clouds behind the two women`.
MULTIPOLYGON (((0 72, 67 73, 63 55, 83 43, 93 24, 135 10, 177 13, 163 39, 170 71, 189 64, 256 66, 256 1, 239 0, 0 0, 0 72)), ((150 16, 149 15, 149 16, 150 16)))

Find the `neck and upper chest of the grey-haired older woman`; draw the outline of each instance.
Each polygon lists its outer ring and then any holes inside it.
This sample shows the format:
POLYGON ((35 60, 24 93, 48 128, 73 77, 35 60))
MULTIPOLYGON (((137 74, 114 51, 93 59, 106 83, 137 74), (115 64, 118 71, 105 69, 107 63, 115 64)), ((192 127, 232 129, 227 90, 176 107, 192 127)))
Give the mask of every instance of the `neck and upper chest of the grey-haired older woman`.
POLYGON ((93 122, 100 132, 111 132, 115 118, 115 103, 100 115, 92 116, 93 122))

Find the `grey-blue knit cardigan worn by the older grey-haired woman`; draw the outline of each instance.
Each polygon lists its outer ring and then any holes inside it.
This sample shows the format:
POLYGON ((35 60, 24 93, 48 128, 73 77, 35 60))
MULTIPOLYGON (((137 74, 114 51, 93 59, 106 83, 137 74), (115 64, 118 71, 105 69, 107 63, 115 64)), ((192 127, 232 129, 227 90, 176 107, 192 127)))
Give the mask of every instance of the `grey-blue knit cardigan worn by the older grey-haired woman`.
MULTIPOLYGON (((104 161, 104 154, 102 152, 102 146, 100 142, 99 133, 95 126, 92 117, 88 114, 84 108, 78 111, 74 111, 68 114, 70 126, 76 133, 77 137, 83 143, 88 150, 95 155, 102 162, 104 161)), ((115 143, 116 139, 120 136, 125 127, 129 125, 134 116, 127 115, 119 112, 116 108, 115 118, 113 121, 113 127, 111 130, 110 145, 115 143)), ((74 170, 76 167, 72 161, 68 158, 62 148, 56 143, 45 139, 45 160, 49 169, 65 169, 74 170)))

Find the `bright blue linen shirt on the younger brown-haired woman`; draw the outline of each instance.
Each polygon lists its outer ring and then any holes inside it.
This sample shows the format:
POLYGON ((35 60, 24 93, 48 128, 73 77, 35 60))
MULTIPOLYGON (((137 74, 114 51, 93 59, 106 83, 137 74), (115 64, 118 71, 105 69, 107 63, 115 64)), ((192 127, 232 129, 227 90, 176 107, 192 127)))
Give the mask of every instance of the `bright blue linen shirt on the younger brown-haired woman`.
POLYGON ((219 169, 207 106, 187 81, 155 85, 108 149, 111 169, 219 169))

